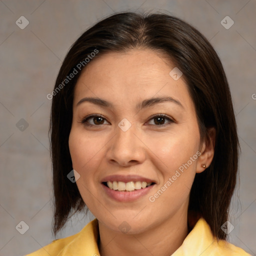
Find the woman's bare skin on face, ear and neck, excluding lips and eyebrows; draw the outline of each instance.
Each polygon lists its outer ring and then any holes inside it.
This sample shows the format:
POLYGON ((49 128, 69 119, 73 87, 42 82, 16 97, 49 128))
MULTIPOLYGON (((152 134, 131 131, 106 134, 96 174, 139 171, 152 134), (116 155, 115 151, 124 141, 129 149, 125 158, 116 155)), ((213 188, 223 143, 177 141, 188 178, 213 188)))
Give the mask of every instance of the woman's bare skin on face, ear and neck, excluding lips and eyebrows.
POLYGON ((200 141, 195 108, 181 76, 174 80, 174 65, 151 49, 133 49, 125 53, 109 52, 93 59, 82 71, 74 89, 73 119, 69 135, 72 166, 80 177, 80 194, 99 223, 100 255, 170 255, 185 239, 187 208, 195 173, 209 166, 214 153, 214 129, 210 140, 200 141), (138 110, 143 99, 171 96, 174 102, 161 102, 138 110), (83 97, 98 97, 113 104, 104 107, 77 102, 83 97), (155 120, 153 115, 168 118, 155 120), (89 114, 103 119, 87 120, 89 114), (127 131, 118 123, 126 118, 127 131), (162 121, 162 122, 161 122, 162 121), (163 123, 163 125, 160 125, 163 123), (197 151, 201 155, 155 199, 169 177, 197 151), (132 202, 117 202, 108 197, 100 181, 111 174, 138 174, 156 185, 132 202), (127 233, 119 229, 126 221, 127 233))

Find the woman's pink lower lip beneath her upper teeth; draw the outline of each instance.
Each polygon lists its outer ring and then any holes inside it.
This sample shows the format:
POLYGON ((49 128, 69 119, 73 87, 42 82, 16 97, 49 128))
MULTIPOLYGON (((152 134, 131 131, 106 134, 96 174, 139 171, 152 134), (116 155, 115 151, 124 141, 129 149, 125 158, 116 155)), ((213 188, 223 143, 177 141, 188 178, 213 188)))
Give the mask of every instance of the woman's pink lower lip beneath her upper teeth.
POLYGON ((103 186, 104 191, 106 192, 106 194, 111 197, 112 199, 115 199, 116 201, 120 201, 120 202, 128 202, 128 201, 134 201, 136 199, 138 199, 139 197, 147 194, 149 192, 149 190, 154 186, 150 185, 147 186, 145 188, 141 188, 141 189, 135 189, 133 191, 118 191, 118 190, 113 190, 110 189, 108 186, 105 186, 104 184, 101 183, 101 185, 103 186))

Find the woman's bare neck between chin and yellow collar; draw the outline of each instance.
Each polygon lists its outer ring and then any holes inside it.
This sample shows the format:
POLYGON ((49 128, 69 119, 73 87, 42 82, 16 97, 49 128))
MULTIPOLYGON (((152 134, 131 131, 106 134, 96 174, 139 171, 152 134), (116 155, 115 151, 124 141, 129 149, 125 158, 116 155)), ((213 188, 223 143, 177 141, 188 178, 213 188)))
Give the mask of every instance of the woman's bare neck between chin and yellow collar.
POLYGON ((101 256, 167 256, 182 244, 187 233, 187 211, 177 212, 160 224, 134 234, 113 231, 99 222, 99 253, 101 256))

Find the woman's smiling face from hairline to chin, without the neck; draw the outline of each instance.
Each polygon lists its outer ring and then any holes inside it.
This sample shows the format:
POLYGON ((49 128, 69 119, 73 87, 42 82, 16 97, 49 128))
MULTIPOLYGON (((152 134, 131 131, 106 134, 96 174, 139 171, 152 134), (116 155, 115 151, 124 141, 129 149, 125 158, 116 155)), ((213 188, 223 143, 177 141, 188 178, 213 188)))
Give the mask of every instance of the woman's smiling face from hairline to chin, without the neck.
POLYGON ((187 214, 201 145, 183 77, 169 74, 174 67, 150 49, 110 52, 88 63, 75 85, 72 167, 106 228, 139 233, 187 214))

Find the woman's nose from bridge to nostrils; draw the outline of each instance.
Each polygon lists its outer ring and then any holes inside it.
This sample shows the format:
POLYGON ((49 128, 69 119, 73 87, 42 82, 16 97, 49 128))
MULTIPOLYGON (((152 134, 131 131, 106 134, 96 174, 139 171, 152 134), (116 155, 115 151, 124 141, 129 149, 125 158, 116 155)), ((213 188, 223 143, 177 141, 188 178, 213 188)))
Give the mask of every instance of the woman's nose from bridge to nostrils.
POLYGON ((121 166, 142 163, 145 160, 145 145, 136 132, 135 125, 126 131, 117 126, 115 132, 108 143, 107 160, 121 166))

